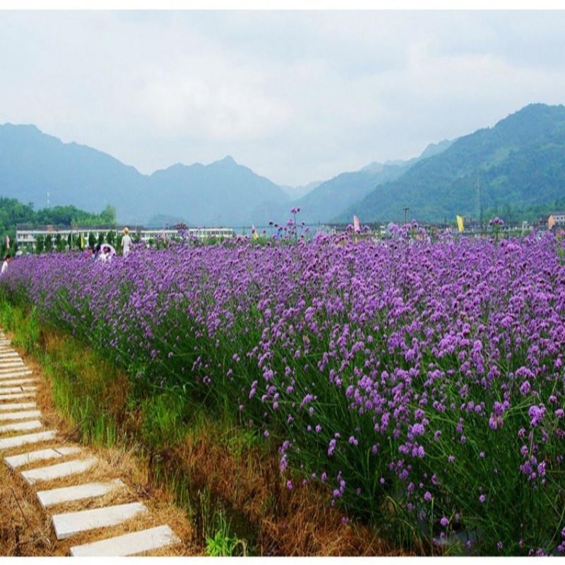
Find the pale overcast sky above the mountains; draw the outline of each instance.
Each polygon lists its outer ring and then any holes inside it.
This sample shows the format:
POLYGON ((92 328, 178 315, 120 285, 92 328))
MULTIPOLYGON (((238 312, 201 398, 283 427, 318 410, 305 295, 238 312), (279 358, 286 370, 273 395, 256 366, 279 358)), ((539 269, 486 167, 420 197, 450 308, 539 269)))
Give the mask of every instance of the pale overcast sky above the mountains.
POLYGON ((565 11, 0 10, 0 124, 299 186, 565 102, 565 11))

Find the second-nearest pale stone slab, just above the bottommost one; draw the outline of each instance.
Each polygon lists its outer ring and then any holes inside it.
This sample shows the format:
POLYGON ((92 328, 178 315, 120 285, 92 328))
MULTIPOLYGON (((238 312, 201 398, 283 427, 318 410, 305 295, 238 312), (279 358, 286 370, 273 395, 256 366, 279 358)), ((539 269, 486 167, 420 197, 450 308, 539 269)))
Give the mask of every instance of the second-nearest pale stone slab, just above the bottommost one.
POLYGON ((147 512, 145 504, 131 502, 130 504, 117 504, 104 508, 54 514, 52 523, 57 540, 66 540, 66 538, 81 532, 120 524, 141 512, 147 512))

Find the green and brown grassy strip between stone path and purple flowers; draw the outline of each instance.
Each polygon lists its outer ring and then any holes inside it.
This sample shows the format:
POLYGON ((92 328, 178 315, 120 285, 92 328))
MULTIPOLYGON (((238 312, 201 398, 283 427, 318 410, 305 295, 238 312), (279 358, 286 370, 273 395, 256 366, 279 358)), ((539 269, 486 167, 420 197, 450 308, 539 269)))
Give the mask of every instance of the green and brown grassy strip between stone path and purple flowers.
POLYGON ((44 369, 59 414, 85 444, 138 454, 148 484, 174 493, 202 552, 225 555, 396 555, 374 532, 328 506, 315 484, 292 489, 278 453, 252 429, 148 389, 83 341, 3 303, 0 323, 44 369))

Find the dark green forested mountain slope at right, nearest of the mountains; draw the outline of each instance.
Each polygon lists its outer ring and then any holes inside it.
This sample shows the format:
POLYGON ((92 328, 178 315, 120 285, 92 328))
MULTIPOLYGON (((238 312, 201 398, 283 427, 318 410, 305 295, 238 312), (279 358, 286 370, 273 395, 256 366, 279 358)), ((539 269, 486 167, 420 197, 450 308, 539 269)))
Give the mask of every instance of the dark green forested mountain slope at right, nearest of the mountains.
POLYGON ((530 219, 565 200, 565 107, 530 105, 458 138, 444 153, 422 160, 402 177, 376 187, 338 219, 364 222, 484 218, 504 212, 530 219))

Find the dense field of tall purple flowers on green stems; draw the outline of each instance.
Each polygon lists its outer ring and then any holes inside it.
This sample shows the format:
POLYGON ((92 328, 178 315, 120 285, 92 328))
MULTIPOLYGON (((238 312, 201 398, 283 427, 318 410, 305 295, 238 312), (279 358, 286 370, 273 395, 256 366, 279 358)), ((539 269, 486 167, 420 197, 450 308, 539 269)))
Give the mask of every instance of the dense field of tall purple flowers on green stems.
POLYGON ((25 256, 13 302, 274 441, 288 489, 410 541, 565 552, 565 249, 400 230, 25 256))

